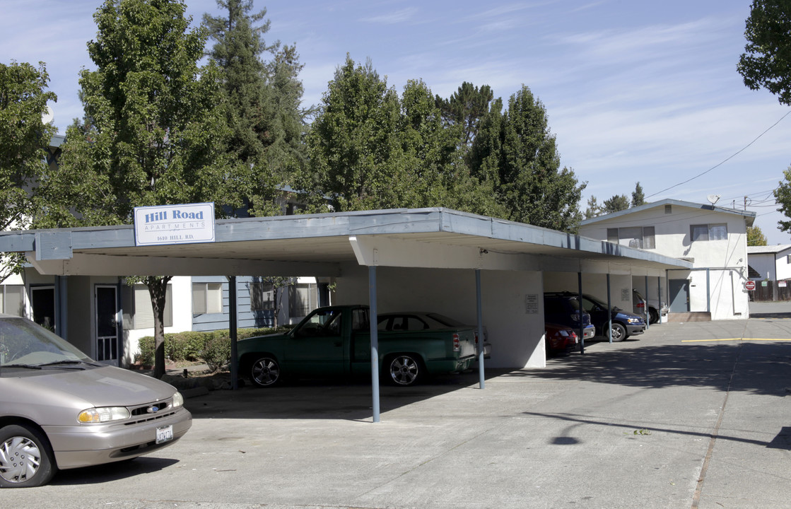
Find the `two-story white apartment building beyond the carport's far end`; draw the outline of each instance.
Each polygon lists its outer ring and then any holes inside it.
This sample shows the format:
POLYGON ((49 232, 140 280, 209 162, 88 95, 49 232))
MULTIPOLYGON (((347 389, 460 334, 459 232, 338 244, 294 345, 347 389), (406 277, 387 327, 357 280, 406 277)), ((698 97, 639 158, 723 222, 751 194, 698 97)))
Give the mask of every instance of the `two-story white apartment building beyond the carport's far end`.
POLYGON ((754 220, 755 212, 663 199, 586 219, 580 234, 690 261, 692 269, 668 270, 661 289, 671 320, 674 313, 743 319, 749 316, 747 226, 754 220))

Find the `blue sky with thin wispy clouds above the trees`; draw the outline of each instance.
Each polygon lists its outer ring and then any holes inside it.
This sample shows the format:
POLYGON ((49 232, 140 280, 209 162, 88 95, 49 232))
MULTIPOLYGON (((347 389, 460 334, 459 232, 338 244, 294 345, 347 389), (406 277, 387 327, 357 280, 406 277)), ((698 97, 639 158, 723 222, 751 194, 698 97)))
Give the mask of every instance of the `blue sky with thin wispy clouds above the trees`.
MULTIPOLYGON (((321 101, 347 52, 358 63, 370 58, 399 91, 420 78, 448 97, 467 81, 490 85, 507 102, 528 85, 547 108, 562 165, 588 182, 583 209, 591 195, 600 203, 630 196, 638 181, 649 201, 707 203, 718 194, 727 207, 747 201, 769 243, 786 244, 791 235, 777 230, 782 215, 771 191, 791 165, 791 116, 781 120, 791 108, 747 89, 736 72, 750 3, 256 0, 255 7, 267 8, 267 40, 297 45, 305 104, 321 101)), ((78 71, 92 65, 85 43, 100 5, 3 0, 0 61, 47 63, 61 133, 81 116, 78 71)), ((214 0, 187 6, 195 21, 220 13, 214 0)))

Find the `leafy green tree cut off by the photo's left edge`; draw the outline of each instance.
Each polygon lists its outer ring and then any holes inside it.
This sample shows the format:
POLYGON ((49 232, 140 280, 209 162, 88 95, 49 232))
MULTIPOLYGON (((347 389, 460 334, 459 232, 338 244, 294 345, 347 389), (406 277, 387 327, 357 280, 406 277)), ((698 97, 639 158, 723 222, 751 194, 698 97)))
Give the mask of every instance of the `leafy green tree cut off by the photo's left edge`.
MULTIPOLYGON (((47 147, 57 129, 44 123, 49 75, 44 63, 0 63, 0 230, 21 230, 30 223, 32 184, 47 173, 47 147)), ((21 271, 22 256, 0 256, 0 282, 21 271)))

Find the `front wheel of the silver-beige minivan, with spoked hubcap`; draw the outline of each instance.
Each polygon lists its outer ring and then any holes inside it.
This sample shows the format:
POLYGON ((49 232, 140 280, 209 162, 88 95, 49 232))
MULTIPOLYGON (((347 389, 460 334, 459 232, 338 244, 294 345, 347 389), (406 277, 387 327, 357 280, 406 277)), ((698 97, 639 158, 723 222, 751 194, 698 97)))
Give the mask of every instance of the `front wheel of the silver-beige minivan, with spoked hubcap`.
POLYGON ((56 471, 49 441, 40 431, 16 424, 0 429, 0 487, 42 486, 56 471))

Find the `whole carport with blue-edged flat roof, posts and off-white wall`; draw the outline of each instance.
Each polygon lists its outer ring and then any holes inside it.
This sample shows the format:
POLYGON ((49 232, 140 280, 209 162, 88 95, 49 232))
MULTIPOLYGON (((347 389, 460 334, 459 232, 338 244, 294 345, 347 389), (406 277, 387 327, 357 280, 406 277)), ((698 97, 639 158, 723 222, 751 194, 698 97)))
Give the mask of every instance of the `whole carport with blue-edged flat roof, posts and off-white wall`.
MULTIPOLYGON (((232 286, 237 275, 333 277, 339 282, 336 303, 359 303, 367 294, 374 316, 380 304, 392 308, 407 302, 475 317, 479 332, 488 321, 490 337, 500 349, 496 357, 493 353, 499 367, 537 366, 536 359, 543 359, 544 272, 576 272, 581 293, 583 273, 607 275, 609 283, 610 274, 662 276, 668 268, 691 265, 445 208, 218 220, 215 241, 200 244, 137 246, 133 226, 2 232, 0 252, 26 253, 42 275, 226 275, 232 286), (383 280, 379 270, 386 271, 384 298, 377 296, 383 280)), ((376 422, 377 326, 371 322, 376 422)), ((235 355, 232 359, 235 363, 235 355)), ((483 352, 479 370, 483 389, 483 352)))

